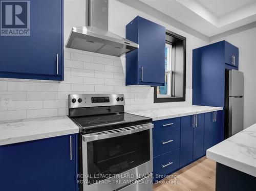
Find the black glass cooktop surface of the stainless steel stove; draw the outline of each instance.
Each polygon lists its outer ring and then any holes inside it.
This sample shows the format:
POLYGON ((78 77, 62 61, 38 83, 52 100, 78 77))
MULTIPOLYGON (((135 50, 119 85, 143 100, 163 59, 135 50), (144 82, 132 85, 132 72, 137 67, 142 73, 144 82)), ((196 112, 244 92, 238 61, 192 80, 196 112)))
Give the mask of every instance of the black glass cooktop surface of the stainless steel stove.
POLYGON ((89 115, 71 117, 71 119, 82 129, 91 129, 96 127, 127 127, 140 125, 144 123, 151 123, 152 118, 134 115, 130 113, 112 113, 103 115, 89 115))

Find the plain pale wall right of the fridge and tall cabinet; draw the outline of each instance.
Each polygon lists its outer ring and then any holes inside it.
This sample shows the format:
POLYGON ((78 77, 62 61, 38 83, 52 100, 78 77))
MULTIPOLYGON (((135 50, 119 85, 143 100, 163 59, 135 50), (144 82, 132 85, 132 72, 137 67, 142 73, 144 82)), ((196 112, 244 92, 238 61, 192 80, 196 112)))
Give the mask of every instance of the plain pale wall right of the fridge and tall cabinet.
POLYGON ((226 36, 212 42, 227 40, 239 47, 239 70, 244 73, 244 128, 256 123, 256 28, 226 36))

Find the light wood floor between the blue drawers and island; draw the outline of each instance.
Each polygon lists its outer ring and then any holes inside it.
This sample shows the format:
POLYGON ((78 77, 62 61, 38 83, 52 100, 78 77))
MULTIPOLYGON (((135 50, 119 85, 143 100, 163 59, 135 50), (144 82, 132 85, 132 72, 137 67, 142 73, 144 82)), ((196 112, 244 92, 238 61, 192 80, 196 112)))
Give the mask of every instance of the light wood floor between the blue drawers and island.
POLYGON ((216 162, 203 157, 153 187, 154 191, 215 191, 215 175, 216 162))

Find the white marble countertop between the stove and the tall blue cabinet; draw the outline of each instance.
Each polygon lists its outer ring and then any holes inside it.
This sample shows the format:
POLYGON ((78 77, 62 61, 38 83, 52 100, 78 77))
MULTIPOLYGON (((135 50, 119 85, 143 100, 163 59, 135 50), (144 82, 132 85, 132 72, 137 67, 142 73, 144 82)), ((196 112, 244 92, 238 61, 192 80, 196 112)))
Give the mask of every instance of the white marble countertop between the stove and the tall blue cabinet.
POLYGON ((160 109, 145 109, 127 111, 127 113, 151 117, 153 121, 165 120, 166 118, 175 118, 187 115, 194 115, 199 113, 207 113, 212 111, 222 110, 222 107, 209 107, 209 106, 182 106, 182 107, 168 107, 160 109))

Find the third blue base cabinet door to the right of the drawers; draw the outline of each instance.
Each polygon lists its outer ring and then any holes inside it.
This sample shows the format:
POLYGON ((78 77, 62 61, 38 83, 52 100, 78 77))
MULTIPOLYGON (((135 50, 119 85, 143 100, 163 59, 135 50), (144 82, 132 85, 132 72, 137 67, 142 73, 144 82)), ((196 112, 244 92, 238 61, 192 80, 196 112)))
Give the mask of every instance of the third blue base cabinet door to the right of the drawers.
POLYGON ((214 112, 204 114, 204 155, 206 150, 213 146, 214 112))

